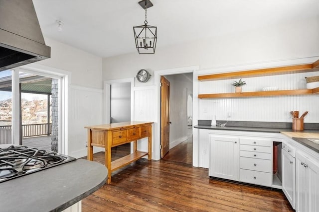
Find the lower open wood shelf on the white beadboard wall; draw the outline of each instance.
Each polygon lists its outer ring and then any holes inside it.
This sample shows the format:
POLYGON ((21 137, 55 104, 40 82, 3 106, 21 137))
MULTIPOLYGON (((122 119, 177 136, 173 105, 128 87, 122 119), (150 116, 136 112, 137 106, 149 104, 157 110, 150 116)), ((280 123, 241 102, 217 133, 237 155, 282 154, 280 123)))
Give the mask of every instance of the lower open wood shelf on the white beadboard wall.
POLYGON ((216 98, 242 98, 242 97, 259 97, 259 96, 288 96, 288 95, 311 95, 319 94, 319 87, 314 89, 300 90, 275 90, 275 91, 254 91, 242 93, 211 93, 198 94, 199 99, 216 99, 216 98))

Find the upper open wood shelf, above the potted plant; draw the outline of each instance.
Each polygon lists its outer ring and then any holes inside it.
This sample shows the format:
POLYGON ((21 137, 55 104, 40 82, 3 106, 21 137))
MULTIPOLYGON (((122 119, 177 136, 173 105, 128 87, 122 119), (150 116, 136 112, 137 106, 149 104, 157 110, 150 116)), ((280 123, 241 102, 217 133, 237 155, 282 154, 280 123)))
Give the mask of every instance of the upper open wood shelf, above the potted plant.
POLYGON ((269 75, 280 75, 287 73, 303 73, 319 71, 319 60, 312 64, 296 65, 296 66, 285 66, 269 69, 258 69, 249 71, 236 71, 227 73, 216 73, 209 75, 200 75, 198 80, 200 81, 211 81, 211 80, 222 80, 222 79, 235 79, 235 78, 248 78, 256 76, 269 76, 269 75))

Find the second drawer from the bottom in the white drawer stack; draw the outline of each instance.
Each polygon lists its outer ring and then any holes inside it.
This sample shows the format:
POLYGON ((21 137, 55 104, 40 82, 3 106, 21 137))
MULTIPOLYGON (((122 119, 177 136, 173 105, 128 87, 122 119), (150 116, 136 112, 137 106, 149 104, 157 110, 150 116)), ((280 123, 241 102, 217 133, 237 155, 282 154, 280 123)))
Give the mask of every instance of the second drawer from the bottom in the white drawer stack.
POLYGON ((271 160, 240 157, 240 168, 271 173, 271 160))

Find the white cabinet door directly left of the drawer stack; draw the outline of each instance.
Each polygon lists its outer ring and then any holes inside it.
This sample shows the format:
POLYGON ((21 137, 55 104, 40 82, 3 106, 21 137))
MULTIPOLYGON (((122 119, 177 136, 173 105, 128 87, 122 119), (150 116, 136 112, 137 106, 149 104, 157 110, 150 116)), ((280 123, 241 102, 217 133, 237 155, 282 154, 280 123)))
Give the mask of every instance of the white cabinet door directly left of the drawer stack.
POLYGON ((231 136, 209 136, 209 176, 239 180, 239 139, 231 136))

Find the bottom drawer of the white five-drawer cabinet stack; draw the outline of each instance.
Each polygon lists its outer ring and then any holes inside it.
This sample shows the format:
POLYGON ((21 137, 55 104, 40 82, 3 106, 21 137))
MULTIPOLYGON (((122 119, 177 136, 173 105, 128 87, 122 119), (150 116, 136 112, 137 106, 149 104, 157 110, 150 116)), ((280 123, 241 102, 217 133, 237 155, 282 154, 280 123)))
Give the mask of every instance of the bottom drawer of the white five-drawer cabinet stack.
POLYGON ((271 187, 271 173, 240 169, 240 181, 271 187))

